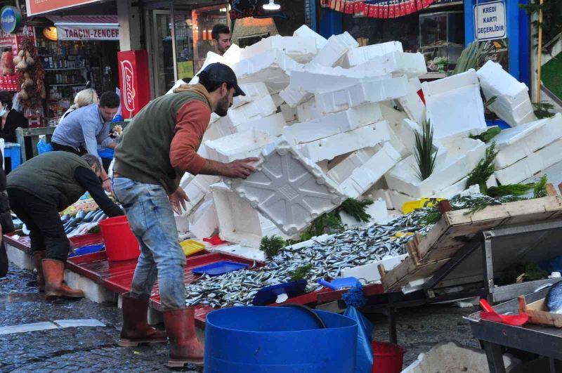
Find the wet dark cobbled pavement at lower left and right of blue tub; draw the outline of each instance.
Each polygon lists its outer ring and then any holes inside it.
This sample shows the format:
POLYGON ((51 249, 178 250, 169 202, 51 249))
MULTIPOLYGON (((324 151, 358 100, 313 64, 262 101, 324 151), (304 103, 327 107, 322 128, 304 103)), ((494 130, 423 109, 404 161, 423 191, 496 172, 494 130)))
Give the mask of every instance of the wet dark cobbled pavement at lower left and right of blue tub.
MULTIPOLYGON (((164 366, 165 344, 123 348, 117 346, 122 325, 115 304, 93 303, 87 299, 48 303, 30 286, 29 270, 13 266, 0 279, 0 372, 171 372, 164 366), (58 327, 55 320, 97 320, 104 327, 58 327), (52 329, 3 334, 3 327, 42 322, 52 329)), ((442 341, 457 341, 478 347, 463 315, 473 308, 424 306, 399 310, 398 341, 407 350, 405 366, 442 341)), ((368 315, 375 326, 375 338, 388 341, 383 315, 368 315)), ((40 325, 40 326, 41 326, 40 325)), ((6 329, 6 328, 4 328, 6 329)), ((201 368, 174 369, 174 372, 202 372, 201 368)))

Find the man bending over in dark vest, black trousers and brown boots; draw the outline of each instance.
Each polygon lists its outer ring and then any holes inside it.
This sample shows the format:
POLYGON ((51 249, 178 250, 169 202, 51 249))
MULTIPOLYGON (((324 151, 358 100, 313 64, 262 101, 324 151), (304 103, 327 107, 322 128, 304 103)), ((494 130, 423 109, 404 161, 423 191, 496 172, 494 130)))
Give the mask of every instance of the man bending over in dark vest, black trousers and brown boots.
POLYGON ((8 174, 12 211, 30 230, 31 249, 39 292, 48 301, 82 298, 84 292, 63 281, 70 242, 58 211, 63 211, 87 191, 107 216, 123 211, 105 195, 100 183, 98 157, 72 152, 47 152, 8 174))

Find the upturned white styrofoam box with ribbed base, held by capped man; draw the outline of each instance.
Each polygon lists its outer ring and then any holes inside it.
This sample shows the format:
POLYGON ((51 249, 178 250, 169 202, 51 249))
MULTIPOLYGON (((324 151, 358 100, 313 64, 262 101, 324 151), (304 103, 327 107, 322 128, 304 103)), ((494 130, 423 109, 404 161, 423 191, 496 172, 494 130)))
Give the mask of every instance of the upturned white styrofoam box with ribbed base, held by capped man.
POLYGON ((225 182, 287 235, 304 230, 346 199, 316 164, 282 138, 263 149, 255 166, 248 178, 225 182))

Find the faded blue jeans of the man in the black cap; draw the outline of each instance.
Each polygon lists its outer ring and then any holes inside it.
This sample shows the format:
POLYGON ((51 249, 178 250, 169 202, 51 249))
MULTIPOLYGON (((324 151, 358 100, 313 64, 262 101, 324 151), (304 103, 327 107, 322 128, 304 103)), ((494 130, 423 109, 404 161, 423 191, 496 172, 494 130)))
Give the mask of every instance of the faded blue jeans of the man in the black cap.
POLYGON ((121 177, 113 178, 112 188, 141 244, 131 296, 150 296, 158 278, 163 308, 185 308, 185 254, 179 244, 174 211, 166 191, 161 185, 121 177))

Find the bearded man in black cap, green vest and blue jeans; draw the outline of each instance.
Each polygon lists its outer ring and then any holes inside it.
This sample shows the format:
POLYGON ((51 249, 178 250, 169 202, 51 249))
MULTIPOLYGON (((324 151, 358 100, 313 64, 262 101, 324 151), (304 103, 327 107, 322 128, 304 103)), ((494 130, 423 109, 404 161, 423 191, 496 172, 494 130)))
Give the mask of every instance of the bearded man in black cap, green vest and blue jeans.
POLYGON ((185 308, 185 254, 178 241, 174 211, 181 213, 189 199, 179 186, 180 180, 185 172, 246 178, 256 171, 249 162, 258 160, 222 163, 197 154, 211 112, 225 116, 233 97, 244 95, 227 65, 212 63, 200 72, 199 78, 199 84, 183 84, 173 94, 146 105, 126 127, 115 149, 113 190, 141 244, 131 292, 122 298, 119 345, 158 341, 146 322, 148 299, 158 279, 171 343, 170 367, 203 362, 194 310, 185 308))

